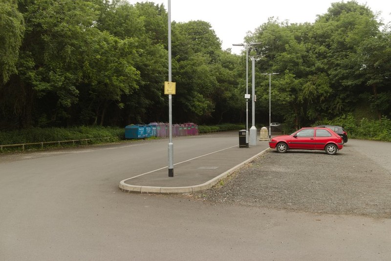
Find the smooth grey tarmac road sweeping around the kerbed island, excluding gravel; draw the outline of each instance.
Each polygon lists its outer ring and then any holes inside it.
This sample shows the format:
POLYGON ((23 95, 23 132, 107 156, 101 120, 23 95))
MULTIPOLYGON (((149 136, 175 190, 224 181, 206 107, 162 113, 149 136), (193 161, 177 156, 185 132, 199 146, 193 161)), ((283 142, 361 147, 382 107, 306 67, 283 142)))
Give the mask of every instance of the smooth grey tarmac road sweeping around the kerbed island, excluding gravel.
MULTIPOLYGON (((174 162, 235 144, 237 132, 174 139, 174 162)), ((120 180, 166 166, 167 146, 1 155, 0 260, 391 260, 390 219, 119 190, 120 180)))

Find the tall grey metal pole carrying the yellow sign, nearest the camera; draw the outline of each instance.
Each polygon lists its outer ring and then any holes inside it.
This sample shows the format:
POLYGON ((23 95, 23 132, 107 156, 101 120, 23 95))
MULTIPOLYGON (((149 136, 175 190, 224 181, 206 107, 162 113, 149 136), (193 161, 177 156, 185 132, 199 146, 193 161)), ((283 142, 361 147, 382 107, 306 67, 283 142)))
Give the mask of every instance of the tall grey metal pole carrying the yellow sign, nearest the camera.
MULTIPOLYGON (((168 0, 168 81, 172 81, 171 71, 171 0, 168 0)), ((174 176, 174 144, 173 144, 173 95, 168 95, 169 111, 169 143, 168 143, 168 176, 174 176)))

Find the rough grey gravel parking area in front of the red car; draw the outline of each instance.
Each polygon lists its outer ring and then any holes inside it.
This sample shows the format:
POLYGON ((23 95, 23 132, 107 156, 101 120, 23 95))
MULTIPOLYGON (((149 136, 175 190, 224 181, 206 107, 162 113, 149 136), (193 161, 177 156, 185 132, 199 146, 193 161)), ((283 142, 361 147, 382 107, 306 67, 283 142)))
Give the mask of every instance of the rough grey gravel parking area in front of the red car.
POLYGON ((349 141, 336 155, 270 150, 192 197, 211 204, 391 218, 389 163, 379 164, 360 146, 349 141))

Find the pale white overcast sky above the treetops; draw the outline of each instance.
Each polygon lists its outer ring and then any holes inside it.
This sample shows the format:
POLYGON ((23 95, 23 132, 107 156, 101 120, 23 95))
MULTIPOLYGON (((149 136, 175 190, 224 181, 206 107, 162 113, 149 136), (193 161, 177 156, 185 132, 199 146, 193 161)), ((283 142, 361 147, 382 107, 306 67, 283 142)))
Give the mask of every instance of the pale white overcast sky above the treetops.
MULTIPOLYGON (((145 0, 128 0, 131 4, 145 0)), ((162 3, 167 10, 168 0, 150 0, 162 3)), ((248 31, 253 32, 269 17, 290 23, 315 22, 316 15, 322 15, 337 0, 171 0, 171 21, 188 22, 202 20, 209 22, 222 48, 232 48, 239 54, 241 47, 232 46, 242 43, 248 31)), ((345 2, 347 2, 345 0, 345 2)), ((381 12, 384 22, 391 21, 390 0, 357 0, 366 4, 374 13, 381 12)))

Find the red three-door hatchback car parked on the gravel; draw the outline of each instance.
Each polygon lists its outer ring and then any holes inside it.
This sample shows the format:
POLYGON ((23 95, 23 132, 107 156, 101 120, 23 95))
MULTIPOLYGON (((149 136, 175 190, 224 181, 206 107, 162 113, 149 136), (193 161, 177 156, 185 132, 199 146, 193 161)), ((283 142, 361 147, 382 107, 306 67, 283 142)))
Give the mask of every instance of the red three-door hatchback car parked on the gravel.
POLYGON ((324 150, 334 155, 344 147, 344 140, 328 128, 302 128, 290 135, 271 138, 269 147, 280 153, 288 150, 324 150))

